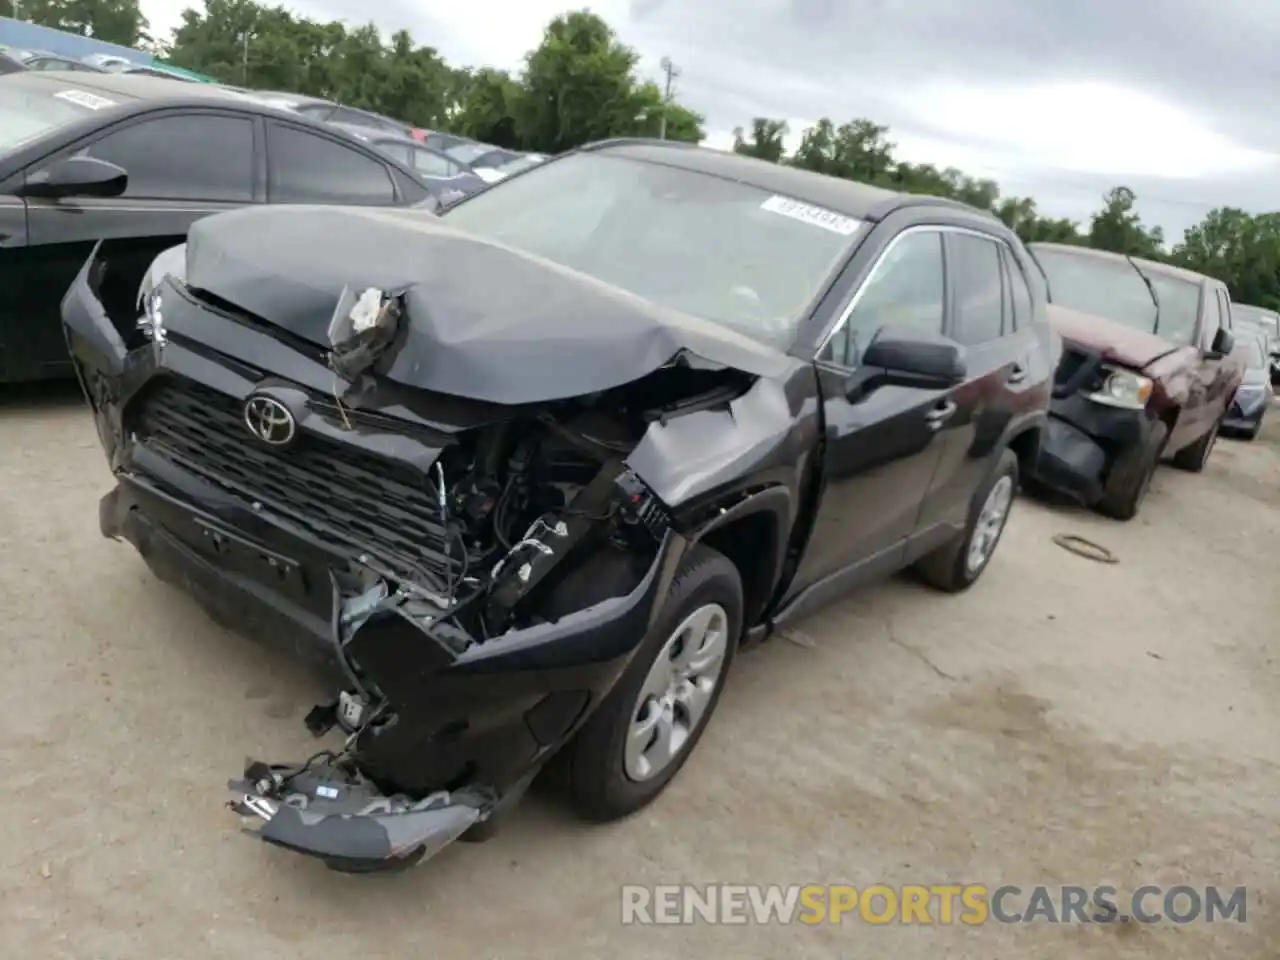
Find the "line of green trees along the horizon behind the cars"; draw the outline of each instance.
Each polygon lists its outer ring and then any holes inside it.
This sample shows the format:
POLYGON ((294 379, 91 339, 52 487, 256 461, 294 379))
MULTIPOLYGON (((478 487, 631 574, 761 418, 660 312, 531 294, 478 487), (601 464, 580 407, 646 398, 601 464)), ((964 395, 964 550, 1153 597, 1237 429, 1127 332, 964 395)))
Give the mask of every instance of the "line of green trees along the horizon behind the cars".
MULTIPOLYGON (((156 40, 138 0, 27 0, 26 19, 150 50, 179 67, 257 90, 337 100, 429 129, 515 150, 557 154, 607 137, 657 136, 700 142, 704 118, 666 100, 640 76, 637 52, 586 10, 554 18, 518 72, 453 65, 407 31, 384 37, 367 23, 321 23, 255 0, 204 0, 172 38, 156 40)), ((1073 243, 1166 260, 1222 279, 1238 302, 1280 307, 1280 214, 1219 207, 1181 241, 1147 227, 1137 197, 1116 186, 1087 223, 1041 214, 1032 197, 1002 196, 991 179, 895 157, 887 127, 822 119, 786 150, 782 120, 755 118, 735 131, 733 150, 772 163, 952 197, 989 210, 1023 239, 1073 243)))

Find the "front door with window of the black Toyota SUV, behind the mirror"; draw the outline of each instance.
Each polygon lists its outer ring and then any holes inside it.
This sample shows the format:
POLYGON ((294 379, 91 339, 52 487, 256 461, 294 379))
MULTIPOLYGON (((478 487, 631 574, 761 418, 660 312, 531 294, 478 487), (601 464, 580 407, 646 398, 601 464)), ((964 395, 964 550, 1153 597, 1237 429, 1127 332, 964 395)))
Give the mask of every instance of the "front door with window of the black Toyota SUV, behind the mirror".
POLYGON ((855 401, 846 384, 881 326, 943 329, 942 234, 911 228, 886 248, 819 355, 824 489, 794 593, 844 571, 897 568, 933 479, 947 392, 882 387, 855 401))

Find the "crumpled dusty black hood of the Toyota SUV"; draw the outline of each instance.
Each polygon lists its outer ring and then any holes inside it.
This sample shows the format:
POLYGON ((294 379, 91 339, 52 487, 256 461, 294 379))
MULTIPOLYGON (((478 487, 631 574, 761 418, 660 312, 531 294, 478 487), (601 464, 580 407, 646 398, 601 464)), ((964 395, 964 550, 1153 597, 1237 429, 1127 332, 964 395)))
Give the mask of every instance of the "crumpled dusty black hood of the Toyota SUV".
POLYGON ((323 347, 344 287, 403 291, 403 342, 383 374, 458 397, 509 404, 579 397, 677 356, 762 376, 790 366, 783 353, 718 324, 421 210, 247 207, 198 220, 186 256, 189 287, 323 347))

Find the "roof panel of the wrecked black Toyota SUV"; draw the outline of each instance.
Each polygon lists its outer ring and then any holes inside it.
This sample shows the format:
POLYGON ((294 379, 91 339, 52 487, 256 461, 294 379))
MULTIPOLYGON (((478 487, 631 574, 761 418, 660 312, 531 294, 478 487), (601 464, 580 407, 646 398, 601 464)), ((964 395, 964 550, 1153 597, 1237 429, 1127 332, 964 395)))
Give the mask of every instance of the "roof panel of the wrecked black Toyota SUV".
POLYGON ((713 150, 678 141, 607 140, 589 143, 579 150, 603 151, 614 156, 627 156, 739 180, 859 220, 881 220, 893 210, 910 205, 945 206, 995 219, 993 214, 957 200, 901 193, 856 180, 846 180, 841 177, 828 177, 797 166, 773 164, 727 150, 713 150))

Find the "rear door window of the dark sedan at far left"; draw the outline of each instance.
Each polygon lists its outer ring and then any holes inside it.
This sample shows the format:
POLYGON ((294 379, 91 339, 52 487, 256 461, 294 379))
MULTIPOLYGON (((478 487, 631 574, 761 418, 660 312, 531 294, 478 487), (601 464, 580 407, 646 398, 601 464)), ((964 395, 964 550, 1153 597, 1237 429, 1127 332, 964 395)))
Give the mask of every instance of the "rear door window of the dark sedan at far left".
POLYGON ((268 200, 273 204, 389 206, 387 168, 358 150, 296 127, 268 124, 268 200))

